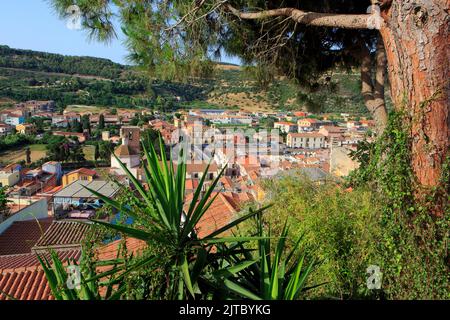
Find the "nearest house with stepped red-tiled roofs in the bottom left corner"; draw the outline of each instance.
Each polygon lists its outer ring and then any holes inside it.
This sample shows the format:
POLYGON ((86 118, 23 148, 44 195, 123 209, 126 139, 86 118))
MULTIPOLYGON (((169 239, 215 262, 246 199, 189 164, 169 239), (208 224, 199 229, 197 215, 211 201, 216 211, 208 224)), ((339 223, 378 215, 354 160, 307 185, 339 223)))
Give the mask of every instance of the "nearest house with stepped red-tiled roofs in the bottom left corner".
MULTIPOLYGON (((46 205, 44 208, 47 213, 46 205)), ((49 260, 48 249, 53 249, 62 261, 78 261, 83 235, 80 229, 89 226, 74 224, 64 222, 59 225, 52 218, 34 217, 31 212, 5 230, 0 224, 0 300, 53 299, 36 253, 49 260)))

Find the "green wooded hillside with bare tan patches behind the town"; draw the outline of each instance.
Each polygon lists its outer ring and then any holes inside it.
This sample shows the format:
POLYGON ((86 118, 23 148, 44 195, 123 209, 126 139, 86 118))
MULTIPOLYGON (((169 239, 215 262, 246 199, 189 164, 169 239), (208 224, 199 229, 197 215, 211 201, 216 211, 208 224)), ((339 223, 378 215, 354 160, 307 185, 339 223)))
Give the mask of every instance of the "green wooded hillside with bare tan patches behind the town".
MULTIPOLYGON (((334 73, 334 90, 315 93, 322 112, 365 115, 359 75, 334 73)), ((212 79, 189 84, 149 80, 133 67, 107 59, 11 49, 0 46, 0 106, 14 101, 53 99, 59 108, 95 105, 118 108, 236 108, 300 110, 300 89, 276 79, 263 91, 239 66, 218 64, 212 79)))

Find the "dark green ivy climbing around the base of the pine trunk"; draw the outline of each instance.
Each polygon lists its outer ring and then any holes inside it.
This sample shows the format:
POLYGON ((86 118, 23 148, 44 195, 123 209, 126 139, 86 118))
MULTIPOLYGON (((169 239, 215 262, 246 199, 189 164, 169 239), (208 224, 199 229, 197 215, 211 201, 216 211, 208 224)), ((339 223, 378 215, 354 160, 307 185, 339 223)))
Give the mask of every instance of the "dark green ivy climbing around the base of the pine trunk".
POLYGON ((374 143, 362 142, 352 156, 360 163, 348 183, 369 186, 382 204, 379 243, 384 274, 383 293, 395 299, 448 299, 450 297, 449 185, 450 159, 441 183, 417 191, 411 168, 409 119, 392 112, 383 135, 374 143), (442 212, 436 214, 435 208, 442 212))

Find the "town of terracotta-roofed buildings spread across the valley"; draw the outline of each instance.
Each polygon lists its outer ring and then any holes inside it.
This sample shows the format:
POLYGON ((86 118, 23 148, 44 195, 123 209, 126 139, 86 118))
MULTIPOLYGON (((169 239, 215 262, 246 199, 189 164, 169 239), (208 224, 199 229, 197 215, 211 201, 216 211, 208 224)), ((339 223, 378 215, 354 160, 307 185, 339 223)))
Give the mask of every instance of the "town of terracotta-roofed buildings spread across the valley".
MULTIPOLYGON (((2 141, 11 137, 25 141, 23 158, 0 167, 7 203, 0 215, 0 270, 7 274, 0 280, 0 290, 11 288, 14 281, 15 287, 25 288, 19 292, 22 298, 49 297, 48 287, 33 288, 42 284, 27 275, 37 263, 35 253, 54 249, 64 257, 80 255, 88 228, 74 221, 97 217, 103 206, 85 187, 116 197, 120 186, 129 184, 119 161, 145 183, 142 142, 146 137, 152 137, 156 148, 160 137, 174 160, 175 150, 189 141, 184 148, 189 150, 187 199, 205 172, 207 185, 226 166, 215 190, 220 195, 197 225, 202 235, 235 219, 246 203, 263 200, 260 182, 281 172, 300 171, 317 183, 348 175, 357 167, 349 156, 351 150, 370 139, 374 128, 372 120, 348 114, 317 116, 304 111, 115 111, 60 114, 53 101, 27 101, 0 112, 2 141), (45 145, 46 154, 39 159, 26 144, 30 136, 36 137, 32 143, 45 145), (89 160, 86 147, 94 149, 89 160), (34 285, 25 285, 27 281, 34 285)), ((115 217, 101 216, 107 221, 115 217)))

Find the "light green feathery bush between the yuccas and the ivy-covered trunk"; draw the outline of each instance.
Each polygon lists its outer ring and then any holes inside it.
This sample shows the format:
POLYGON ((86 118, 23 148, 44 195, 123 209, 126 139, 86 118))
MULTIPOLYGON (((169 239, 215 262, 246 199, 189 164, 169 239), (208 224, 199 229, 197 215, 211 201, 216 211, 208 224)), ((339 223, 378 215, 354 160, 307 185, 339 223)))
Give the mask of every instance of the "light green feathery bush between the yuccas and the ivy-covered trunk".
MULTIPOLYGON (((264 217, 274 233, 289 219, 292 239, 304 233, 304 244, 320 261, 311 283, 324 286, 309 293, 315 299, 375 297, 367 289, 366 270, 379 265, 377 223, 380 208, 368 190, 346 191, 335 182, 317 184, 301 173, 263 183, 266 201, 273 206, 264 217)), ((253 228, 253 227, 252 227, 253 228)))

